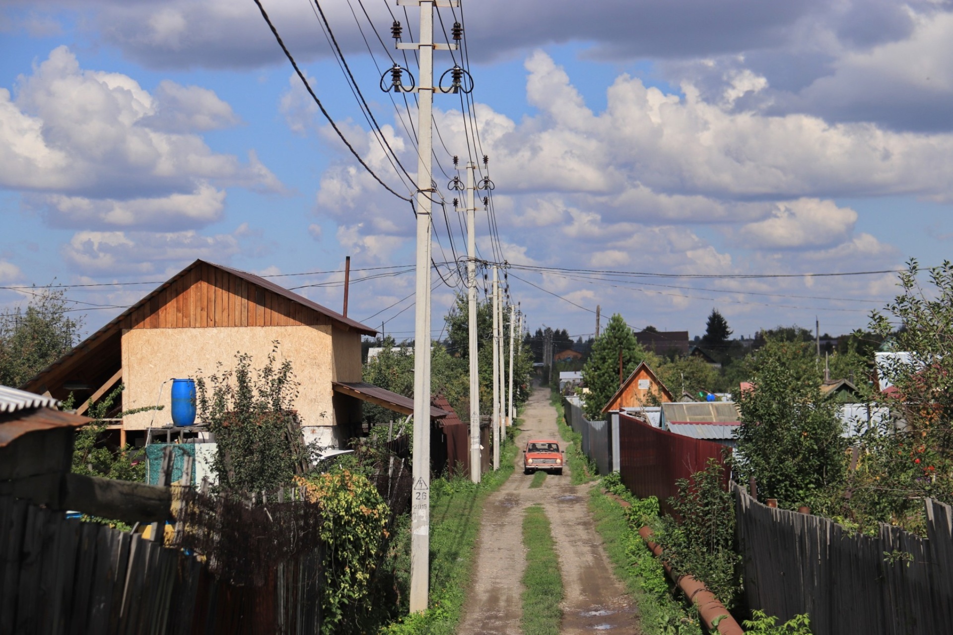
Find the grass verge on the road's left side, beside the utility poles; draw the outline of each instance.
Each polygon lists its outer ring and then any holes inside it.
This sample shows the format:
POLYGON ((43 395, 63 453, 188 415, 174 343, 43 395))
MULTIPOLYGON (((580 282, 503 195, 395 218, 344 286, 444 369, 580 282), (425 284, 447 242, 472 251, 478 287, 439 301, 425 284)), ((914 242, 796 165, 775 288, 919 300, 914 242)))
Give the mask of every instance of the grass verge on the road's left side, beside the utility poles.
MULTIPOLYGON (((507 439, 500 448, 499 469, 483 474, 479 484, 468 478, 435 479, 430 499, 430 605, 414 615, 405 615, 399 622, 381 629, 386 635, 453 635, 466 601, 466 589, 474 566, 474 546, 479 534, 480 516, 487 496, 513 473, 517 446, 513 437, 518 425, 507 429, 507 439)), ((395 546, 401 553, 404 599, 410 589, 411 535, 409 523, 395 546)))

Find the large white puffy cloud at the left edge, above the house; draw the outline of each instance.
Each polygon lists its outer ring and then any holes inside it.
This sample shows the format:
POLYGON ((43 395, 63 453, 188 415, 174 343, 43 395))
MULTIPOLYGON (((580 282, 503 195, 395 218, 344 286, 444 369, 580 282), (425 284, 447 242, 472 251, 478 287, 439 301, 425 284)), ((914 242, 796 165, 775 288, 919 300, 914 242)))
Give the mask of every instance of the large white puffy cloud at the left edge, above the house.
POLYGON ((236 121, 211 90, 166 81, 153 96, 128 75, 81 69, 59 47, 19 77, 15 100, 0 89, 0 187, 34 192, 28 204, 53 220, 199 227, 219 216, 216 183, 282 190, 253 151, 243 165, 188 133, 236 121))

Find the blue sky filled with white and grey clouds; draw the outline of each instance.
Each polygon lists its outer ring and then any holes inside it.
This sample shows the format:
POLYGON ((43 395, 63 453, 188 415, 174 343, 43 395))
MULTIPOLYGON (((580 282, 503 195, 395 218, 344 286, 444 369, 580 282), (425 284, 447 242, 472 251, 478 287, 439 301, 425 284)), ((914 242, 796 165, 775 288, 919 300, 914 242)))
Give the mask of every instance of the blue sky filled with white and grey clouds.
MULTIPOLYGON (((713 308, 736 335, 844 333, 896 275, 822 274, 949 257, 953 3, 470 1, 436 21, 466 42, 436 72, 468 62, 474 90, 435 98, 435 337, 463 288, 454 155, 489 157, 479 257, 513 266, 534 330, 587 336, 598 305, 692 336, 713 308)), ((338 129, 406 197, 416 108, 379 86, 392 58, 416 77, 390 30, 414 41, 418 11, 319 2, 262 0, 338 129)), ((349 315, 413 335, 414 211, 340 141, 253 0, 7 0, 0 166, 0 309, 71 285, 91 332, 202 258, 339 310, 350 255, 349 315)))

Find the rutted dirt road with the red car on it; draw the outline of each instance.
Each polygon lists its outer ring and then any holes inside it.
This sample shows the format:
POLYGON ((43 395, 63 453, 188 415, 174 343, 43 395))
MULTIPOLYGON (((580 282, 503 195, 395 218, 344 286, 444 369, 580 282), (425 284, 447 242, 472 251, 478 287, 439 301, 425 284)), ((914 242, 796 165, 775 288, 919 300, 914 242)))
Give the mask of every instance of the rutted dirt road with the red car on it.
MULTIPOLYGON (((549 390, 537 387, 523 413, 517 444, 533 437, 558 439, 556 409, 549 390)), ((569 467, 562 476, 547 476, 530 489, 532 476, 517 470, 494 493, 483 510, 476 544, 476 566, 459 635, 518 635, 522 616, 520 580, 526 566, 522 545, 523 509, 541 504, 552 523, 562 572, 562 632, 638 633, 635 607, 612 573, 596 526, 589 514, 589 489, 569 485, 569 467)))

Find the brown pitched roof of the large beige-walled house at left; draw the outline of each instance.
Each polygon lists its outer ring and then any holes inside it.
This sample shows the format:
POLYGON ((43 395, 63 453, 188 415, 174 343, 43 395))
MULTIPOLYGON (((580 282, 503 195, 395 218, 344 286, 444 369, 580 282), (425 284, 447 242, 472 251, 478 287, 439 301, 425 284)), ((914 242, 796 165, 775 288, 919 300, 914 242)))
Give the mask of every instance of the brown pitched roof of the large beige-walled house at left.
POLYGON ((309 308, 315 311, 316 313, 324 315, 325 317, 332 320, 332 322, 335 322, 342 327, 353 328, 357 332, 361 333, 362 335, 376 335, 377 334, 377 331, 374 328, 367 327, 357 322, 356 320, 352 320, 351 318, 344 317, 340 313, 334 310, 331 310, 330 308, 322 307, 321 305, 317 304, 313 300, 309 300, 303 295, 299 295, 295 293, 294 291, 291 291, 287 288, 275 285, 273 282, 266 280, 265 278, 262 278, 261 276, 255 275, 253 273, 249 273, 248 271, 242 271, 241 269, 225 267, 224 265, 216 265, 215 263, 210 263, 210 262, 199 259, 193 262, 188 267, 182 269, 181 271, 173 275, 172 278, 167 280, 165 283, 163 283, 159 287, 154 288, 149 294, 147 294, 141 300, 139 300, 134 305, 132 305, 132 307, 127 308, 125 311, 123 311, 122 313, 117 315, 115 318, 113 318, 108 324, 106 324, 106 326, 101 327, 99 330, 92 333, 88 338, 80 342, 78 345, 76 345, 75 347, 72 347, 69 352, 67 352, 62 357, 60 357, 59 359, 51 363, 50 366, 38 372, 36 376, 32 377, 26 384, 23 385, 23 387, 28 390, 36 390, 39 392, 42 392, 43 390, 45 390, 46 389, 44 387, 45 378, 51 373, 51 371, 56 369, 56 367, 60 367, 63 364, 70 362, 72 358, 74 358, 77 354, 88 352, 93 347, 100 346, 101 344, 103 344, 105 340, 107 340, 111 336, 118 337, 118 334, 122 332, 123 325, 126 324, 127 322, 132 322, 132 314, 134 312, 140 309, 148 309, 153 298, 157 298, 162 291, 172 287, 172 285, 175 282, 177 282, 180 278, 185 276, 187 273, 190 273, 191 271, 193 271, 194 268, 202 267, 202 266, 225 271, 226 273, 229 273, 237 278, 240 278, 246 282, 249 282, 257 287, 266 289, 268 291, 273 292, 276 295, 279 295, 287 300, 290 300, 292 303, 296 305, 309 308))

